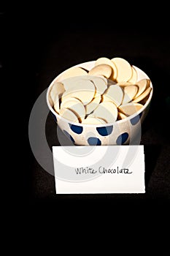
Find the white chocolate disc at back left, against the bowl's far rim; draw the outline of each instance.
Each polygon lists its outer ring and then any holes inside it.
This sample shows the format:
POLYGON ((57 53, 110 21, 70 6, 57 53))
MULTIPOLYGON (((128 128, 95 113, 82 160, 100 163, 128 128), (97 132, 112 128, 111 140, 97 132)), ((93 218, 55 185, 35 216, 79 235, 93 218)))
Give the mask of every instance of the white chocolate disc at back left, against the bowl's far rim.
POLYGON ((62 81, 66 78, 71 78, 77 75, 88 75, 88 72, 85 71, 85 69, 82 69, 81 67, 70 67, 69 69, 66 69, 59 77, 58 81, 62 81))

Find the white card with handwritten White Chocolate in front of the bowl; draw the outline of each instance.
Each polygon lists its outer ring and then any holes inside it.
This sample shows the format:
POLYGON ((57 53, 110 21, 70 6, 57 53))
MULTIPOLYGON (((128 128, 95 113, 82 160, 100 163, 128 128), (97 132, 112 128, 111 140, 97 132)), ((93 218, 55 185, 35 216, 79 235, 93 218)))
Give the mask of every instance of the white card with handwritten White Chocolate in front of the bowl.
POLYGON ((144 146, 53 146, 57 194, 144 193, 144 146))

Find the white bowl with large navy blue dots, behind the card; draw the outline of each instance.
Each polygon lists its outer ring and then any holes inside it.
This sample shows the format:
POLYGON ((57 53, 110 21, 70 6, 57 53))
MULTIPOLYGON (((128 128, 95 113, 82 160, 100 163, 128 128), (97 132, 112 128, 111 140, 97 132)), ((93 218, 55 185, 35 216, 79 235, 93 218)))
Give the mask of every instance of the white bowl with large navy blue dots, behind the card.
MULTIPOLYGON (((94 67, 95 61, 88 61, 82 64, 77 64, 74 67, 82 67, 90 70, 94 67)), ((137 80, 143 78, 150 79, 141 69, 133 66, 137 72, 137 80)), ((152 99, 152 90, 144 102, 143 107, 127 118, 114 121, 109 124, 82 124, 76 123, 63 118, 55 112, 52 103, 50 102, 49 94, 53 84, 63 75, 62 72, 58 75, 47 89, 47 105, 50 112, 53 114, 58 127, 69 138, 74 145, 77 146, 101 146, 101 145, 139 145, 142 135, 142 123, 147 116, 152 99)), ((150 87, 152 82, 150 80, 150 87)), ((62 144, 62 142, 61 142, 62 144)))

